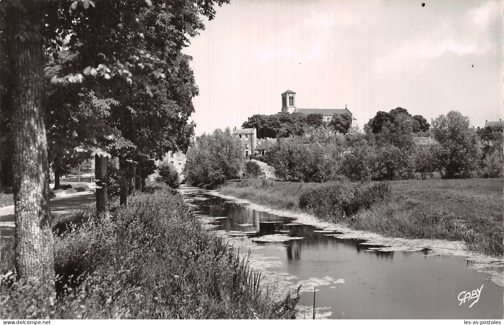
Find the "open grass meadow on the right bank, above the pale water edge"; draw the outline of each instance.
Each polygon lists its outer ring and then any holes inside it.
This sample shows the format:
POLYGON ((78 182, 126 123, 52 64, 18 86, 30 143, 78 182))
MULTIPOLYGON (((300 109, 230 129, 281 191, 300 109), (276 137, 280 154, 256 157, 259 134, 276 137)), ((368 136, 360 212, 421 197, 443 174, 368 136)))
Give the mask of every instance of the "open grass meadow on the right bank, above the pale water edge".
MULTIPOLYGON (((469 250, 502 256, 504 179, 408 180, 389 183, 390 197, 352 218, 327 220, 392 237, 464 240, 469 250)), ((272 208, 298 210, 305 189, 319 183, 255 181, 219 192, 272 208)), ((307 211, 311 213, 312 211, 307 211)))

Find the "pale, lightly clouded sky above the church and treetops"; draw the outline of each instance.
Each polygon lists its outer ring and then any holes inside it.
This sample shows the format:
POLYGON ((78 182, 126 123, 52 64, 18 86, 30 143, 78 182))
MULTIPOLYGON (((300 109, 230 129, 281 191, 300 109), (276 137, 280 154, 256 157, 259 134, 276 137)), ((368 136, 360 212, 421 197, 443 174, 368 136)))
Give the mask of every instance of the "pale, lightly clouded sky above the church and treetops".
POLYGON ((361 130, 396 107, 429 122, 451 110, 475 127, 504 119, 503 4, 231 0, 183 50, 196 135, 278 113, 286 90, 297 108, 347 105, 361 130))

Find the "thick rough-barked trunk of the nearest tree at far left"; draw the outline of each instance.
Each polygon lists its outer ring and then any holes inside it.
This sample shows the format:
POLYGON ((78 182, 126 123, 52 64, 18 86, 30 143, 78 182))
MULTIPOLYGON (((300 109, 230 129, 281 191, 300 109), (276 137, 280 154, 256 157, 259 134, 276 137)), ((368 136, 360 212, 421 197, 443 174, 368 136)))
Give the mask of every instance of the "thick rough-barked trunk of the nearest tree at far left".
POLYGON ((8 7, 6 13, 8 51, 15 71, 12 131, 16 271, 18 279, 35 278, 48 291, 54 291, 39 6, 37 1, 22 1, 8 7), (20 4, 24 10, 19 9, 20 4))

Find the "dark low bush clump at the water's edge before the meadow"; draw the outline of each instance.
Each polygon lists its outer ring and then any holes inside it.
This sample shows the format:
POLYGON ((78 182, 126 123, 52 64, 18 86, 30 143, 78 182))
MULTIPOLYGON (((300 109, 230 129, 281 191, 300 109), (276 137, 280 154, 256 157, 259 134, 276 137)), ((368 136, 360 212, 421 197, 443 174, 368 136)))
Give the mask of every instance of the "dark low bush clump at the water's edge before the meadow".
POLYGON ((386 182, 372 185, 331 183, 304 190, 299 197, 299 207, 311 210, 317 217, 337 221, 355 215, 360 209, 369 209, 390 192, 386 182))

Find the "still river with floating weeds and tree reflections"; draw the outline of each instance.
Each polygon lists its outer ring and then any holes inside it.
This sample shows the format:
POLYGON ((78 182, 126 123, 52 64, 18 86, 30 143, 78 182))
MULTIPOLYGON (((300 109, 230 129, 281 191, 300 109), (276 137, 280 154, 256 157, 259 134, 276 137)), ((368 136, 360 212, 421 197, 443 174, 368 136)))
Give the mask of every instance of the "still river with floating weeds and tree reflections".
MULTIPOLYGON (((465 258, 381 252, 363 239, 257 211, 193 187, 179 190, 211 231, 250 252, 275 297, 301 285, 298 318, 502 319, 501 286, 465 258), (316 290, 314 292, 314 290, 316 290)), ((497 268, 497 267, 495 267, 497 268)))

